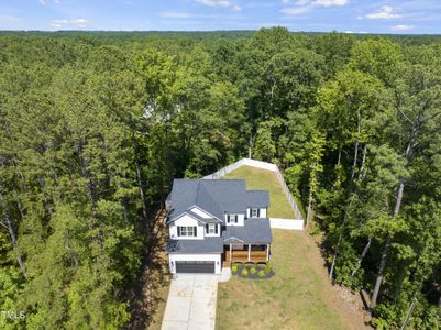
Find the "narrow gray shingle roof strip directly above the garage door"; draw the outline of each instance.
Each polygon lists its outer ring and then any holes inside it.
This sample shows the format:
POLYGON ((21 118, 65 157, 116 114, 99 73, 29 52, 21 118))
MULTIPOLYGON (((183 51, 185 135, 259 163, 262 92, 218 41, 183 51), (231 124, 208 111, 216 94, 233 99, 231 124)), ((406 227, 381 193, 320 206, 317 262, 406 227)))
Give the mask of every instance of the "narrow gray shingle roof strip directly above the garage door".
POLYGON ((169 240, 169 253, 221 253, 223 238, 205 238, 203 240, 169 240))

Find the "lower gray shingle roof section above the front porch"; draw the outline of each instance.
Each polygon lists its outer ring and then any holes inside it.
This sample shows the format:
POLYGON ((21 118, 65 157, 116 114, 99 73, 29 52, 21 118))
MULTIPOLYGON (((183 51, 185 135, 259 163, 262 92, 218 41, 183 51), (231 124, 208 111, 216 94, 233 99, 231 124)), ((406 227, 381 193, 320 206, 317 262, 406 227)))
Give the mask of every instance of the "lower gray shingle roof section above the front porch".
POLYGON ((269 244, 272 233, 268 219, 246 219, 244 226, 227 226, 222 231, 225 243, 245 242, 269 244))

